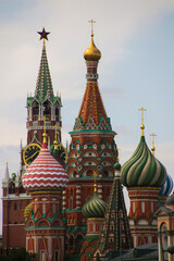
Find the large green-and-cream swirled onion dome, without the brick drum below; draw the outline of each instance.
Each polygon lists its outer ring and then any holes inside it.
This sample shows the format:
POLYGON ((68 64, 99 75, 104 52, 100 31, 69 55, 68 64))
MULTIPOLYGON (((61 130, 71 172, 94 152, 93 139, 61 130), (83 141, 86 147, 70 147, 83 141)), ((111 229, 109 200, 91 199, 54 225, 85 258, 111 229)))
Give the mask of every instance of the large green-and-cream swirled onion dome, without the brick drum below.
POLYGON ((136 151, 122 167, 123 185, 126 187, 160 187, 165 178, 165 167, 151 153, 145 136, 141 136, 136 151))

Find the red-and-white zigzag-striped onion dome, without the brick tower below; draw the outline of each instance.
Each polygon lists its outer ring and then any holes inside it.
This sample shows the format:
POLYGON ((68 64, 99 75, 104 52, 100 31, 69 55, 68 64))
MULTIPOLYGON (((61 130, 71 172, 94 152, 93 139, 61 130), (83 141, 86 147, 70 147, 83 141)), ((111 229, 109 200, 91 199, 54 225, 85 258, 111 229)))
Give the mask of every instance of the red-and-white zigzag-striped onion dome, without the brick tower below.
POLYGON ((67 186, 67 173, 51 156, 47 144, 23 175, 23 186, 28 191, 61 190, 67 186))

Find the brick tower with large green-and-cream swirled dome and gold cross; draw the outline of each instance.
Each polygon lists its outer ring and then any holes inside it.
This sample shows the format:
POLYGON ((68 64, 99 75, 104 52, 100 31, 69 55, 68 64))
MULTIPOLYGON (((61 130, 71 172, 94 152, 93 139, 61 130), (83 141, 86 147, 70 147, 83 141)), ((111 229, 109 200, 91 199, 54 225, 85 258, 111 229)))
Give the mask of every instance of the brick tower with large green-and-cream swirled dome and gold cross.
POLYGON ((149 150, 144 135, 144 111, 141 108, 141 137, 139 145, 123 165, 121 179, 127 187, 130 200, 129 225, 134 247, 157 243, 157 217, 160 187, 166 178, 165 167, 149 150))

